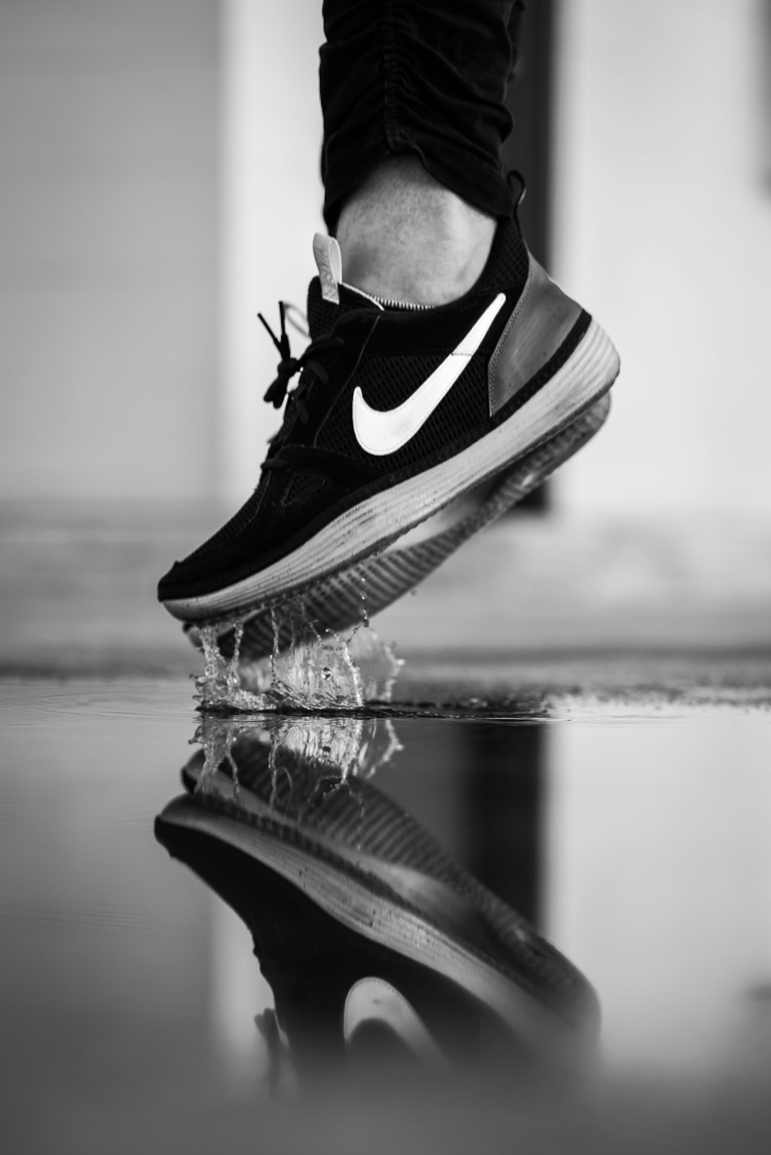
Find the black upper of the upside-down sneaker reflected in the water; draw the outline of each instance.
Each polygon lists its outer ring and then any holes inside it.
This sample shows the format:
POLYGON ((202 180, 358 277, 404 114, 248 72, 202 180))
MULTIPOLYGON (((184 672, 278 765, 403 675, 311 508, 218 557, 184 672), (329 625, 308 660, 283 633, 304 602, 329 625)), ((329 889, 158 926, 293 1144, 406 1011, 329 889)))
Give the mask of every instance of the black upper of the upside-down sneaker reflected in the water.
MULTIPOLYGON (((471 1045, 479 1012, 463 991, 351 931, 301 886, 267 867, 248 848, 235 847, 225 815, 212 805, 174 799, 156 820, 156 837, 248 926, 289 1041, 287 1058, 300 1078, 323 1075, 330 1061, 345 1060, 349 1048, 372 1044, 375 1015, 360 1013, 351 1021, 349 1013, 346 1035, 345 1008, 351 992, 373 974, 398 991, 407 1007, 420 1008, 412 1014, 422 1027, 414 1021, 383 1023, 381 1018, 385 1029, 374 1040, 379 1050, 436 1065, 446 1051, 458 1053, 471 1045)), ((262 1027, 265 1015, 259 1019, 262 1027)))

